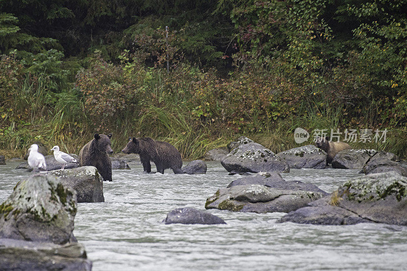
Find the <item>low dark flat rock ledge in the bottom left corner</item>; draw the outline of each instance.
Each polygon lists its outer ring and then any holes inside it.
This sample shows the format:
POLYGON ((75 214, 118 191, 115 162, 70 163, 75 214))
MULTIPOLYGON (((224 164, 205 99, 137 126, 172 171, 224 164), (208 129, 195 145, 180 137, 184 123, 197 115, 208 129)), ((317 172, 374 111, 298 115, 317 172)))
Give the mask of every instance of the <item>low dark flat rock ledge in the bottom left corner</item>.
POLYGON ((92 262, 79 243, 55 245, 25 240, 0 239, 1 270, 90 271, 92 262))

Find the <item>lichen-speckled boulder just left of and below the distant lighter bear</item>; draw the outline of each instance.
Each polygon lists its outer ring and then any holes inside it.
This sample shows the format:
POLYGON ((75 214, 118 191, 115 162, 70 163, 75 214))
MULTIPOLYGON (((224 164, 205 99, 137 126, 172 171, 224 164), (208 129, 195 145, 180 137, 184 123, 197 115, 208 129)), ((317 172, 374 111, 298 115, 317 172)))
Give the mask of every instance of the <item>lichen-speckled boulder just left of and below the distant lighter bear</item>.
POLYGON ((327 154, 314 145, 296 147, 278 153, 277 157, 284 159, 289 168, 323 169, 327 165, 327 154))

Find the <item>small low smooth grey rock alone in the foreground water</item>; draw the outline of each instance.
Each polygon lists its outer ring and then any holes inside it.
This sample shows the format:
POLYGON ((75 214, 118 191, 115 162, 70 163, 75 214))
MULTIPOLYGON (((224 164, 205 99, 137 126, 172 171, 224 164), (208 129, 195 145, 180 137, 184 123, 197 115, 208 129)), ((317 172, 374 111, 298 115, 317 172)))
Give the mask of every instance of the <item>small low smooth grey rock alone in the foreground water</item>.
POLYGON ((177 208, 167 214, 163 220, 165 224, 226 224, 223 219, 207 212, 202 212, 194 208, 177 208))

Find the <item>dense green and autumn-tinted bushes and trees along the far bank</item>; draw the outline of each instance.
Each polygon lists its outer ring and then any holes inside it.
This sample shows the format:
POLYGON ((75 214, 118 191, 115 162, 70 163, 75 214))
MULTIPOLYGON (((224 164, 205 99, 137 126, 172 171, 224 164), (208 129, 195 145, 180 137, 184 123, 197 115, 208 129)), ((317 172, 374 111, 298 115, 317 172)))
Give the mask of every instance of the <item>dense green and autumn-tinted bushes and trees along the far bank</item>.
POLYGON ((280 152, 299 146, 302 127, 387 129, 386 142, 351 145, 405 158, 405 10, 402 0, 1 2, 1 152, 22 156, 39 140, 78 153, 94 132, 113 133, 117 151, 129 136, 165 140, 185 159, 239 135, 280 152))

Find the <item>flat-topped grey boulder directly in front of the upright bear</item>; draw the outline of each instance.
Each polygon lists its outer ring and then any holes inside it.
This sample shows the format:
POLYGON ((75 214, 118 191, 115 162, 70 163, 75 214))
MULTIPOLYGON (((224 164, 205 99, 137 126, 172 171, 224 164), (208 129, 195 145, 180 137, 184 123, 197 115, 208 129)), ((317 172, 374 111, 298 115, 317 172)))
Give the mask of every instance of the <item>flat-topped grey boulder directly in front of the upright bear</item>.
POLYGON ((104 202, 103 179, 94 166, 50 171, 65 187, 76 191, 78 202, 104 202))

